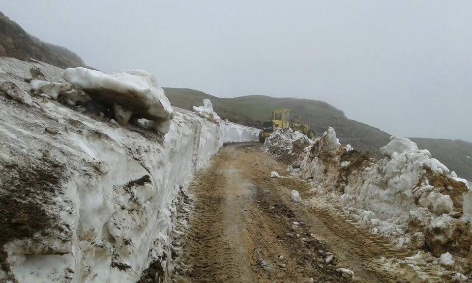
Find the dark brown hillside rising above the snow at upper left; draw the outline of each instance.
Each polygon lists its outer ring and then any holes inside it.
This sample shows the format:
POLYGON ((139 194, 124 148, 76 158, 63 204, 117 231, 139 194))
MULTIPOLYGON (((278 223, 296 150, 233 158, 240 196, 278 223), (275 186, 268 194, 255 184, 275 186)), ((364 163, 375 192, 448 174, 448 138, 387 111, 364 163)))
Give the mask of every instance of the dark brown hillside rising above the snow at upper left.
POLYGON ((84 61, 72 51, 42 42, 30 36, 17 23, 0 12, 0 56, 27 60, 28 57, 61 68, 83 66, 84 61))

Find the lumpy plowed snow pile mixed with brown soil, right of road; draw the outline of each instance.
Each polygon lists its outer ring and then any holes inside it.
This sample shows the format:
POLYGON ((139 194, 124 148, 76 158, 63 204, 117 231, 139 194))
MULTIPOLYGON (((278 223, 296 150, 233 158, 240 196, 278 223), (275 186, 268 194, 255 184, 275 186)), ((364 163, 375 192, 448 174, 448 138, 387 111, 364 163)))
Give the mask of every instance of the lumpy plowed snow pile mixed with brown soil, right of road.
MULTIPOLYGON (((404 138, 391 138, 372 156, 341 146, 333 128, 310 141, 292 130, 276 130, 267 150, 289 161, 289 170, 313 185, 324 200, 417 254, 405 261, 418 278, 466 281, 472 274, 472 192, 428 150, 404 138), (308 144, 307 144, 308 142, 308 144)), ((306 205, 310 201, 304 200, 306 205)))

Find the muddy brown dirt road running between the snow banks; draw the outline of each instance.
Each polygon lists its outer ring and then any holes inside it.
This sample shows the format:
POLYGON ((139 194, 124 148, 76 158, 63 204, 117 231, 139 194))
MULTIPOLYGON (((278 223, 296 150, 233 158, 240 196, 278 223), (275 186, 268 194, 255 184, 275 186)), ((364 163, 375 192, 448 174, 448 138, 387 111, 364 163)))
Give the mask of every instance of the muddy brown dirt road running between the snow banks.
POLYGON ((406 256, 387 240, 329 206, 292 202, 294 189, 304 199, 316 192, 296 178, 270 178, 285 168, 260 144, 238 143, 198 173, 177 282, 412 282, 408 272, 389 275, 378 263, 406 256))

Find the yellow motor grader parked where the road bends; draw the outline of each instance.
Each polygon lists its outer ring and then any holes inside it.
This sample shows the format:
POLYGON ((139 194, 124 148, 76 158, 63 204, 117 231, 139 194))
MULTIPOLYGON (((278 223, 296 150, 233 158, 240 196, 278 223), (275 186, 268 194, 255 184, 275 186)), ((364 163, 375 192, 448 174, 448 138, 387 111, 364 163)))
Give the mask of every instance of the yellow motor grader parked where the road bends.
POLYGON ((310 139, 315 137, 315 132, 310 130, 310 127, 305 122, 301 121, 301 116, 298 116, 298 120, 290 121, 290 109, 277 109, 272 111, 272 119, 267 122, 262 122, 262 126, 263 129, 259 133, 259 142, 265 142, 266 138, 278 128, 292 128, 294 131, 307 135, 310 139))

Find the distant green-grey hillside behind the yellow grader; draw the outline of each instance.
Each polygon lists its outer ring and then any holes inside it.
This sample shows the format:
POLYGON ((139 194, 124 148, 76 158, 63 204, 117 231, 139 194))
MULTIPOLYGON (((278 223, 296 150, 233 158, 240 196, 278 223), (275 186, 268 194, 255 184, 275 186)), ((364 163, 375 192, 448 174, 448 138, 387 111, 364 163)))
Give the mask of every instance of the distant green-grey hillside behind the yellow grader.
MULTIPOLYGON (((290 109, 292 119, 301 115, 317 135, 332 126, 340 141, 355 149, 368 151, 381 158, 379 148, 389 142, 390 135, 378 128, 348 119, 344 113, 323 101, 295 98, 272 98, 262 95, 219 98, 187 88, 164 88, 172 105, 192 110, 208 98, 214 110, 236 123, 260 127, 260 121, 270 120, 273 109, 290 109)), ((472 143, 463 141, 414 138, 420 148, 427 148, 459 176, 472 179, 472 143), (467 158, 466 156, 471 156, 467 158)))

